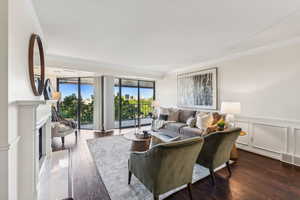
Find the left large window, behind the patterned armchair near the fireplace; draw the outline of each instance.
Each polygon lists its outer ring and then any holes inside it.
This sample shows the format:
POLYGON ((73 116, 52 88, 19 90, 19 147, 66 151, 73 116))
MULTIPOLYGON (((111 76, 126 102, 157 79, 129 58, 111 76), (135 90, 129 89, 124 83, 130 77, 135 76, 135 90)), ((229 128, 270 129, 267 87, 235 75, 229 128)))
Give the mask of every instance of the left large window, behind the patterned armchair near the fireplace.
POLYGON ((93 129, 94 78, 59 78, 59 112, 77 121, 80 129, 93 129))

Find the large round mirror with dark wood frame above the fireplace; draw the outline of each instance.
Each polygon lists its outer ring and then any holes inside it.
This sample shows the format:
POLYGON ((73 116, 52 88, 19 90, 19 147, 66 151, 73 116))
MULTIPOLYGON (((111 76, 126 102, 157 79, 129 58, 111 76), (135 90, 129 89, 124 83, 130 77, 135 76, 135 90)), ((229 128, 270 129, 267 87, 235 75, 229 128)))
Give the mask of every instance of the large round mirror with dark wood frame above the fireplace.
POLYGON ((42 40, 37 34, 30 37, 28 67, 32 91, 35 96, 41 96, 45 87, 45 55, 42 40))

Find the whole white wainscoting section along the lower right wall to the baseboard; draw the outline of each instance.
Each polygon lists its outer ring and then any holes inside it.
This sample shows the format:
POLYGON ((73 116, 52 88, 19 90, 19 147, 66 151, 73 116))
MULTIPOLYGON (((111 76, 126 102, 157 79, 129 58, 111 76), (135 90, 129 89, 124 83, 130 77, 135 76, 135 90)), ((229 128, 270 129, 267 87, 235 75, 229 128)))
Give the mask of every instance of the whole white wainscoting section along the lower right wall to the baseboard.
POLYGON ((300 121, 238 116, 235 124, 248 133, 238 148, 300 166, 300 121))

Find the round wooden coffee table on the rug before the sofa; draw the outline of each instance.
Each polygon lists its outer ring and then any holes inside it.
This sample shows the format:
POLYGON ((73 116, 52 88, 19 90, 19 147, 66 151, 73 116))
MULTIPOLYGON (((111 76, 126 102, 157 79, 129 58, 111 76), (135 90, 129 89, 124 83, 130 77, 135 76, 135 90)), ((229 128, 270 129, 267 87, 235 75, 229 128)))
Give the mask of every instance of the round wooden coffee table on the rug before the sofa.
POLYGON ((124 134, 124 138, 131 140, 130 151, 147 151, 150 146, 151 136, 148 138, 138 138, 135 132, 124 134))

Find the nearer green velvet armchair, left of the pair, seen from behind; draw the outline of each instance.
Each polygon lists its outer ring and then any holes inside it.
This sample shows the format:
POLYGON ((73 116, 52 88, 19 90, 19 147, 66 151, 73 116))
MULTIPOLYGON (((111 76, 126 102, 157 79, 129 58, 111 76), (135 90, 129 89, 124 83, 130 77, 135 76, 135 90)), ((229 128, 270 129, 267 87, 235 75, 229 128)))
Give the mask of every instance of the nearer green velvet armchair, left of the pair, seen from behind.
POLYGON ((182 185, 188 185, 192 199, 193 169, 203 145, 203 138, 194 137, 153 146, 146 152, 132 152, 128 161, 128 184, 134 174, 159 199, 182 185))

